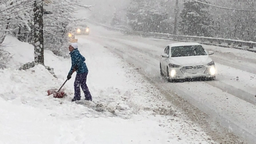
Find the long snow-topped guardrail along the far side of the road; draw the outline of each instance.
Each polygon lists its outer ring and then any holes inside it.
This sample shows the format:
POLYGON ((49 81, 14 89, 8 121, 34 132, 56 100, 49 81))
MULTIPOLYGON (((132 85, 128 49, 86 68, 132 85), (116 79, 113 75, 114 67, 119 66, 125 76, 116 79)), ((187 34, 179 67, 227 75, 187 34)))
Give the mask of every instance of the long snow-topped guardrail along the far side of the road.
MULTIPOLYGON (((128 35, 139 35, 142 37, 154 37, 158 39, 169 39, 173 41, 184 41, 184 42, 199 42, 205 45, 215 45, 219 47, 231 47, 235 49, 242 49, 256 53, 256 42, 253 41, 241 41, 235 39, 223 39, 223 38, 214 38, 214 37, 198 37, 198 36, 186 36, 186 35, 172 35, 168 33, 151 33, 151 32, 141 32, 141 31, 131 31, 127 29, 121 29, 116 27, 110 27, 100 23, 90 22, 99 26, 103 26, 106 29, 121 31, 122 33, 128 35)), ((119 26, 120 27, 120 26, 119 26)))

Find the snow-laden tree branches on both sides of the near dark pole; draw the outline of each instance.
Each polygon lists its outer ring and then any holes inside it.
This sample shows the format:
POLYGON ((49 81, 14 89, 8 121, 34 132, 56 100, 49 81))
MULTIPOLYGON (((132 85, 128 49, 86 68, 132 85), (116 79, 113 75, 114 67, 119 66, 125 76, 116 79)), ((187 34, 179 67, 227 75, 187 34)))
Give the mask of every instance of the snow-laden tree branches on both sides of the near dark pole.
MULTIPOLYGON (((0 43, 5 35, 11 34, 21 41, 34 43, 33 7, 35 0, 0 1, 0 43)), ((81 0, 52 1, 53 14, 44 15, 44 48, 66 51, 68 32, 75 29, 75 24, 86 19, 77 19, 73 15, 77 6, 92 10, 92 5, 81 5, 81 0)))

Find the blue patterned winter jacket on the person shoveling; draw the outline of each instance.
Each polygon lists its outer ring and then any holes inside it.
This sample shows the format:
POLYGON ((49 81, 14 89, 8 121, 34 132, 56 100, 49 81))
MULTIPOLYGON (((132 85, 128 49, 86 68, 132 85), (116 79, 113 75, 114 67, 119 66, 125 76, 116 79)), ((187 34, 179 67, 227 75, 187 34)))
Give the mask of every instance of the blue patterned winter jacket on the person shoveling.
POLYGON ((88 73, 88 69, 87 69, 87 66, 85 64, 85 57, 83 57, 78 49, 75 49, 73 51, 71 51, 70 53, 70 56, 71 56, 71 69, 69 71, 69 74, 72 73, 73 71, 73 68, 75 67, 75 65, 78 66, 78 69, 77 69, 77 73, 88 73))

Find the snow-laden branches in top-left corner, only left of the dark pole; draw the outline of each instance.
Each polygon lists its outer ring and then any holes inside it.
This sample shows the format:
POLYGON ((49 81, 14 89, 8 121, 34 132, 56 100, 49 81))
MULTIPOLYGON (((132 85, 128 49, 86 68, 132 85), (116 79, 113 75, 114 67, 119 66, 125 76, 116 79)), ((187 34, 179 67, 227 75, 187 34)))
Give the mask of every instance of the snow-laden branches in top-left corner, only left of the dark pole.
MULTIPOLYGON (((27 41, 27 33, 30 30, 31 9, 33 0, 3 0, 0 2, 0 37, 4 38, 7 34, 12 34, 18 39, 27 41), (23 33, 23 35, 21 35, 23 33)), ((3 39, 0 39, 0 43, 3 39)))

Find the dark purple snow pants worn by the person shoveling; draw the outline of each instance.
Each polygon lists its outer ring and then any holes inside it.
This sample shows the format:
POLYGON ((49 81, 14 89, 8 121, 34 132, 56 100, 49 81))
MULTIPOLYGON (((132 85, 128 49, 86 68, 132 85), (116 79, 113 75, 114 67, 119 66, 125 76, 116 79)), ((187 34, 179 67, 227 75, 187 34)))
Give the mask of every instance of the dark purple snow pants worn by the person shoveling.
POLYGON ((81 99, 81 92, 80 92, 80 86, 83 90, 83 93, 85 94, 85 100, 91 100, 91 93, 86 85, 86 79, 87 79, 88 73, 77 73, 75 77, 74 82, 74 89, 75 89, 75 95, 74 99, 80 100, 81 99))

